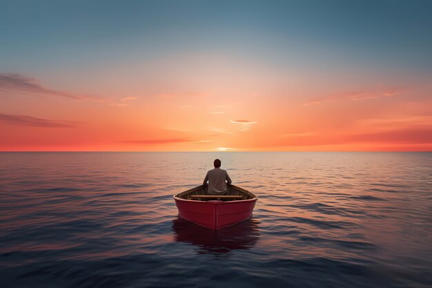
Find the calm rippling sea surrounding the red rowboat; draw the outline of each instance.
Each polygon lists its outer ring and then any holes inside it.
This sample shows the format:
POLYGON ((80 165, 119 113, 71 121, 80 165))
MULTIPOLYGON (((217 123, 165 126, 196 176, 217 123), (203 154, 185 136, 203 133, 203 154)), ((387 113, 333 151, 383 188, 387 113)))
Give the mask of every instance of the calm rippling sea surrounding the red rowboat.
POLYGON ((431 287, 432 153, 0 153, 0 286, 431 287), (217 233, 173 200, 216 157, 217 233))

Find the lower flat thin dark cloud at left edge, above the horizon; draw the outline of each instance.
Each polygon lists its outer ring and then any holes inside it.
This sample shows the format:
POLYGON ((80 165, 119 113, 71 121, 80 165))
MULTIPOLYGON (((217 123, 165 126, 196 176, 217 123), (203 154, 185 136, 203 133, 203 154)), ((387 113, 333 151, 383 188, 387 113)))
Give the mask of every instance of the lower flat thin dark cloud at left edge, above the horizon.
POLYGON ((74 128, 83 122, 66 120, 48 120, 26 115, 8 115, 0 113, 0 122, 20 126, 47 127, 47 128, 74 128))

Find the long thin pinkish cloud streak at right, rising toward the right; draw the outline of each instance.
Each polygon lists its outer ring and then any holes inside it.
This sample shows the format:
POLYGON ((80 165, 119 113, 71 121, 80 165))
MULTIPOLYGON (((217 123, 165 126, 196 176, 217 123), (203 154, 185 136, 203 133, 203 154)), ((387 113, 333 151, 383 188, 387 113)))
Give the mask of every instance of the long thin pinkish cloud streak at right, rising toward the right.
POLYGON ((377 91, 348 91, 344 93, 337 93, 337 94, 331 94, 326 95, 324 97, 313 99, 309 102, 305 102, 304 106, 311 106, 311 105, 317 105, 322 104, 323 102, 337 102, 342 100, 351 100, 351 101, 360 101, 364 99, 377 99, 382 97, 392 97, 395 95, 399 95, 404 90, 400 88, 386 88, 382 89, 380 88, 377 91))

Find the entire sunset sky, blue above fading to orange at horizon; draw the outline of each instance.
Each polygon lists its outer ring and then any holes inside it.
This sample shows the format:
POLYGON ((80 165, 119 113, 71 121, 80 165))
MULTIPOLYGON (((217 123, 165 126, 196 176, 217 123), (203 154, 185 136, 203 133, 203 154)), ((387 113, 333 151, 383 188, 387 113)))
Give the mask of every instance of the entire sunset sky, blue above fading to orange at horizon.
POLYGON ((0 151, 432 151, 431 15, 0 0, 0 151))

